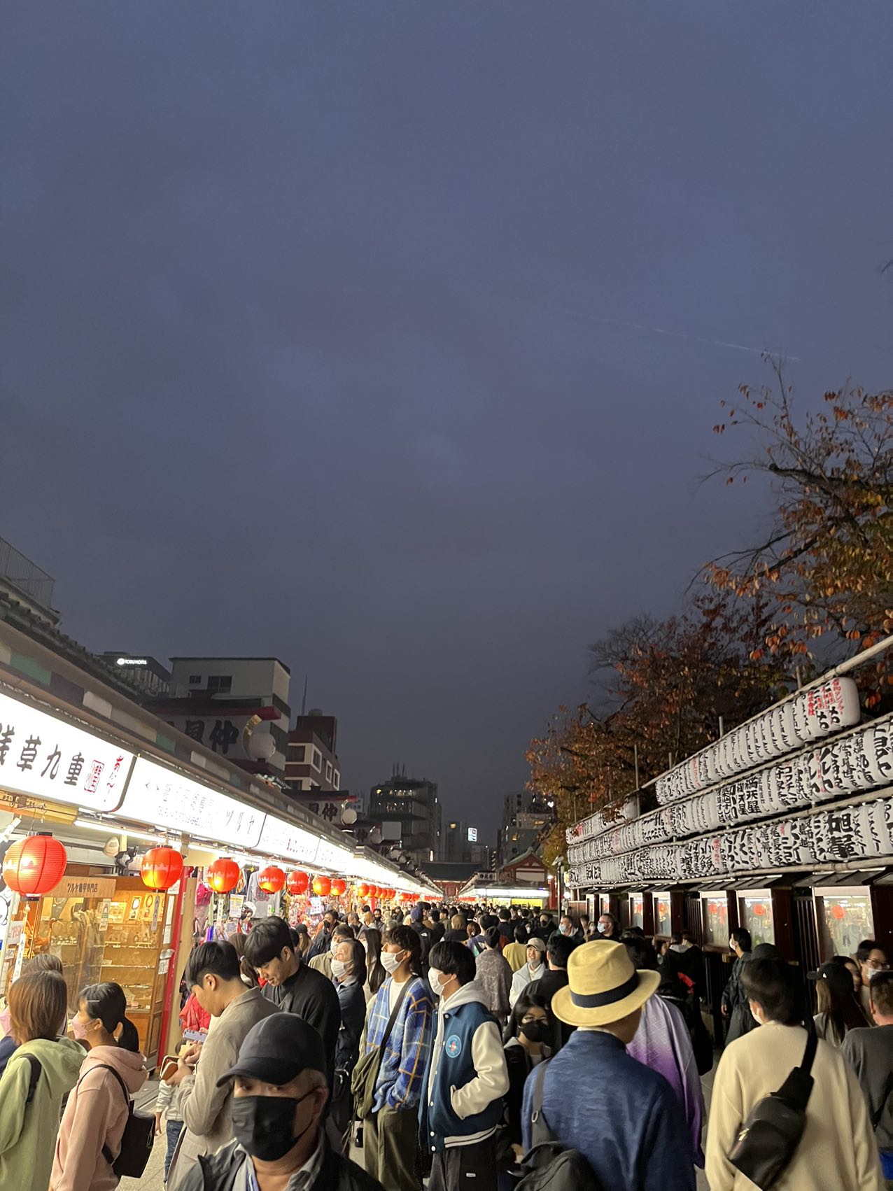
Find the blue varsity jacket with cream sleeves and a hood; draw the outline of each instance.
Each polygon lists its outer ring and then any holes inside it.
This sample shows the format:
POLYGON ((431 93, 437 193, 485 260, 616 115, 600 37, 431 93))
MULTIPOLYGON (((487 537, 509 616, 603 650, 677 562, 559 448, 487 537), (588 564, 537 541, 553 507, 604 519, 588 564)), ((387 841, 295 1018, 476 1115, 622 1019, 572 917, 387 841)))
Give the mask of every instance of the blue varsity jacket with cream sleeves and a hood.
POLYGON ((487 997, 473 980, 437 1009, 437 1034, 419 1105, 421 1145, 430 1153, 470 1146, 497 1131, 508 1070, 487 997))

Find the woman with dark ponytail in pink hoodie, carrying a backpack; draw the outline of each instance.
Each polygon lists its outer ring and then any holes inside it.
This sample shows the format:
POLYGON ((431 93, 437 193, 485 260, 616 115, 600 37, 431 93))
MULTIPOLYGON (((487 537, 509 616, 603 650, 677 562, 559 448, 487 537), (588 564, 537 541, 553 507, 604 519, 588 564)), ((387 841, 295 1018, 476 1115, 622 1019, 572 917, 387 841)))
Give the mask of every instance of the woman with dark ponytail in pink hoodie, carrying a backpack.
POLYGON ((71 1033, 88 1053, 62 1115, 50 1191, 114 1191, 119 1179, 102 1149, 118 1155, 129 1112, 129 1096, 114 1073, 132 1096, 145 1083, 145 1065, 119 984, 93 984, 77 1003, 71 1033))

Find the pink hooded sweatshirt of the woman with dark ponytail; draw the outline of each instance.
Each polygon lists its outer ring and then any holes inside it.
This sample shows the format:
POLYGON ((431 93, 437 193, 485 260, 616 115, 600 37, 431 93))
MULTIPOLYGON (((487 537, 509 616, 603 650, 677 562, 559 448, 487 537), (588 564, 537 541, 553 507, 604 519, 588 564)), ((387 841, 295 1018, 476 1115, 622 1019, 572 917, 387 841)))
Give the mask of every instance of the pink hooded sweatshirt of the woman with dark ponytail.
POLYGON ((50 1191, 114 1191, 118 1176, 102 1156, 102 1147, 117 1156, 129 1106, 114 1067, 133 1096, 146 1080, 142 1054, 117 1046, 96 1046, 83 1060, 75 1090, 68 1097, 52 1159, 50 1191))

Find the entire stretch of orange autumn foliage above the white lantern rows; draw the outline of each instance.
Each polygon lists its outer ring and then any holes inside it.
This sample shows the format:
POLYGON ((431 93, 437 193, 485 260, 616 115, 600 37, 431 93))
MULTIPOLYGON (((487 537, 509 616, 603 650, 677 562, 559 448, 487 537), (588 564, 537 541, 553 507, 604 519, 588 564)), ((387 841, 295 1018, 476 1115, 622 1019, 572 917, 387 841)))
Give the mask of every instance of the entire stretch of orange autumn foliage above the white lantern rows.
MULTIPOLYGON (((719 464, 726 484, 766 475, 775 524, 764 541, 705 568, 707 593, 667 621, 641 617, 591 647, 600 698, 561 707, 527 753, 530 787, 557 822, 543 854, 595 810, 619 813, 668 765, 743 723, 819 668, 893 634, 893 393, 826 393, 798 423, 775 382, 725 403, 725 435, 749 428, 758 453, 719 464)), ((858 674, 868 707, 893 686, 893 655, 858 674)))

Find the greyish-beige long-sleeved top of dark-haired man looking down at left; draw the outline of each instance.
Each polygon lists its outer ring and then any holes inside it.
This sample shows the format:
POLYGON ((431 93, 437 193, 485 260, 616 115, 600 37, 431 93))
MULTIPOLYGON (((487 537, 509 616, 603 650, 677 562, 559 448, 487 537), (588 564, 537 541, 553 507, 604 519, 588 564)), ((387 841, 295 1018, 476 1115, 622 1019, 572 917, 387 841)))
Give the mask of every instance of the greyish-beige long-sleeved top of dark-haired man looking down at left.
POLYGON ((168 1174, 171 1191, 176 1191, 201 1154, 213 1154, 232 1141, 232 1084, 218 1087, 217 1080, 236 1062, 251 1027, 279 1011, 279 1005, 267 1000, 260 989, 249 989, 214 1018, 214 1028, 208 1031, 201 1048, 195 1078, 183 1084, 180 1108, 185 1128, 168 1174))

